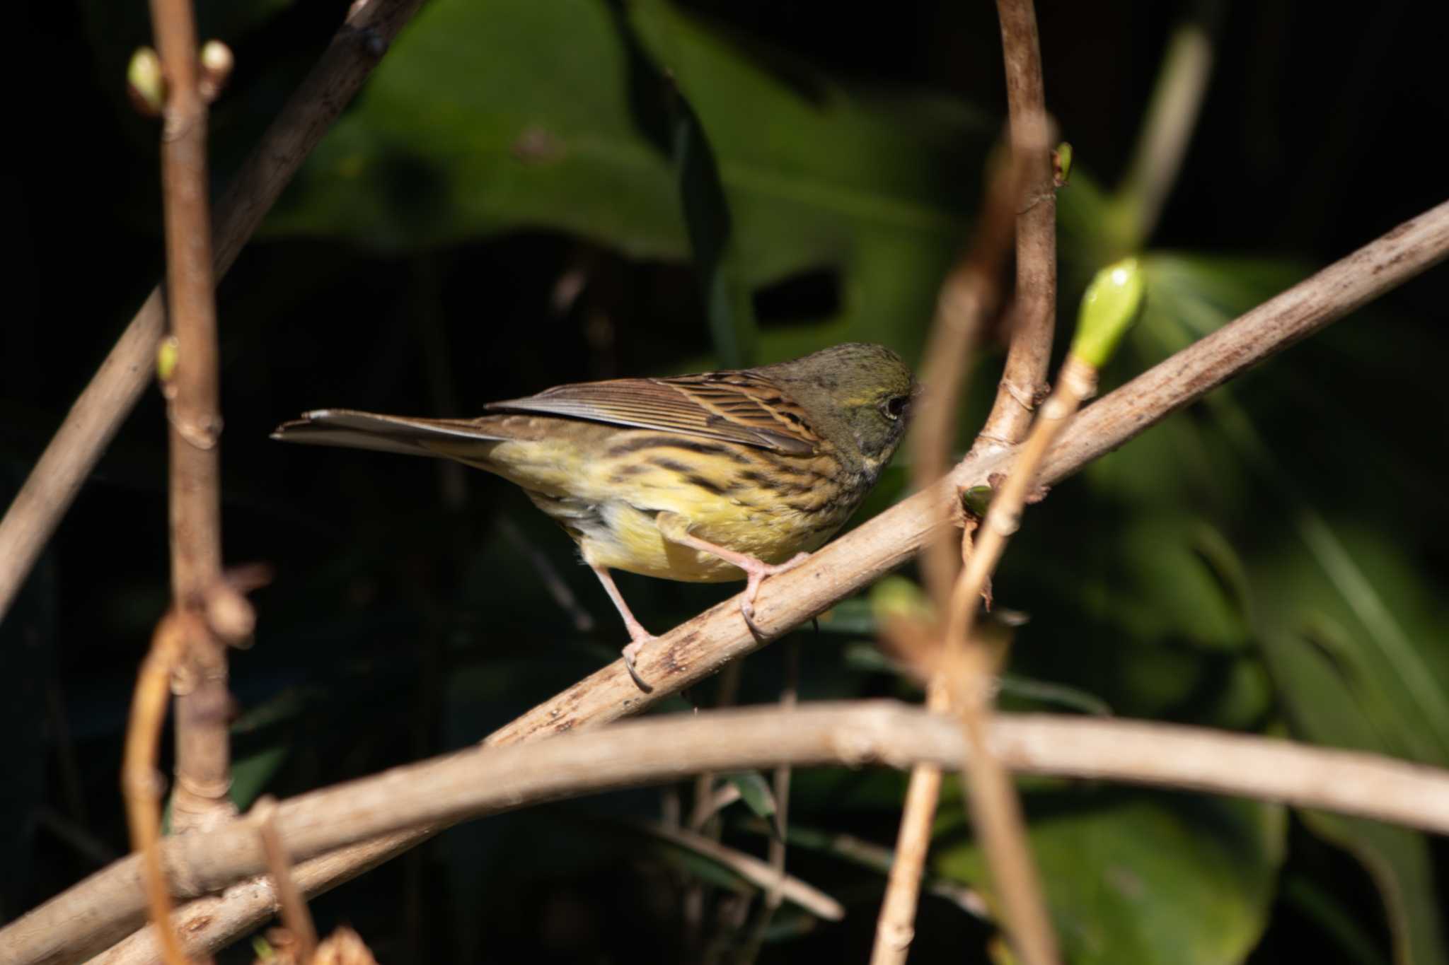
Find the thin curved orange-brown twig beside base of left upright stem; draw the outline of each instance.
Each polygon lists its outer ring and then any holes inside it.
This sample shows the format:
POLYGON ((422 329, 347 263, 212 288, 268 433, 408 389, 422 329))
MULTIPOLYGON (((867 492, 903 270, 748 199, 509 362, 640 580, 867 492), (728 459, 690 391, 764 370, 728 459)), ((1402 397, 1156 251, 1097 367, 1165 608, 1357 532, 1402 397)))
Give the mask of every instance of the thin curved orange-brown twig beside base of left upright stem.
POLYGON ((168 611, 156 625, 151 650, 141 661, 120 768, 130 848, 141 855, 151 920, 165 924, 161 929, 161 953, 167 965, 185 965, 187 959, 171 926, 171 888, 161 864, 161 774, 156 757, 171 696, 171 674, 185 655, 188 634, 184 624, 188 619, 194 618, 168 611))

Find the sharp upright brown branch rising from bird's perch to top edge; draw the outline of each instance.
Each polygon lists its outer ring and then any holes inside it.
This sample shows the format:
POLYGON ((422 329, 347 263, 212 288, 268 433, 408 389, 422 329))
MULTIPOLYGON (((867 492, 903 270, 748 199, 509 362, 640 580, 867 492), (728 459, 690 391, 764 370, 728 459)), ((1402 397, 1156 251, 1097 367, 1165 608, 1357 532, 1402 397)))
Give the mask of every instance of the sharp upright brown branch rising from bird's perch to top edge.
POLYGON ((1011 343, 995 404, 978 444, 1014 446, 1026 437, 1036 402, 1046 395, 1046 367, 1056 326, 1056 185, 1049 152, 1042 46, 1032 0, 997 0, 1011 155, 1026 181, 1016 216, 1016 308, 1011 343))

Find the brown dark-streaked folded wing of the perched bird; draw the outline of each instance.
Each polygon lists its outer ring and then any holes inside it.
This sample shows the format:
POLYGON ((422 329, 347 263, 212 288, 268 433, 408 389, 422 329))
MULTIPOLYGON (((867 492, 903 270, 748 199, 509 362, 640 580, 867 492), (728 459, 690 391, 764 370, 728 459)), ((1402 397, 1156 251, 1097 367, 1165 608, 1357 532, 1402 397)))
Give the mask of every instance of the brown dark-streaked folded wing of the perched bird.
POLYGON ((788 394, 753 372, 578 382, 488 409, 680 433, 791 456, 811 456, 822 441, 788 394))

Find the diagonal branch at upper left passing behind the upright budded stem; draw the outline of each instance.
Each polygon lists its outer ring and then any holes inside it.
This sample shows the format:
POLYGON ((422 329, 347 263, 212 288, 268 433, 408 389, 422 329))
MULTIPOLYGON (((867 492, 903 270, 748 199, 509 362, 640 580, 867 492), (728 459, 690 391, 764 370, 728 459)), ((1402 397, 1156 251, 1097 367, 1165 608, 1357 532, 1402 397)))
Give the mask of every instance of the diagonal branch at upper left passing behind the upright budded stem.
MULTIPOLYGON (((277 114, 216 205, 214 258, 220 278, 262 216, 348 106, 423 0, 356 0, 301 85, 277 114)), ((155 288, 71 407, 4 518, 0 519, 0 619, 96 460, 146 388, 164 330, 155 288)))

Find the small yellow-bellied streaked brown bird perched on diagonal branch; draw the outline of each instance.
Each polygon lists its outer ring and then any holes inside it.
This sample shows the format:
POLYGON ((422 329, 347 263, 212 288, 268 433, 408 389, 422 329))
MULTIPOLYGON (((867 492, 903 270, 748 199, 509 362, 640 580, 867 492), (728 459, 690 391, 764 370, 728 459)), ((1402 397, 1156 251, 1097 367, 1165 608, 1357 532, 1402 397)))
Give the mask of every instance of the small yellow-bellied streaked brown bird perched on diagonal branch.
MULTIPOLYGON (((578 544, 629 631, 625 666, 656 639, 610 570, 761 583, 806 560, 895 454, 920 386, 893 350, 845 343, 751 369, 559 385, 477 418, 314 409, 287 443, 454 459, 501 476, 578 544)), ((762 637, 761 637, 762 638, 762 637)))

